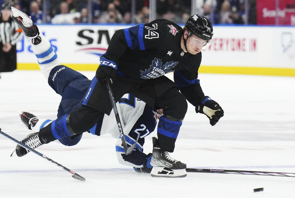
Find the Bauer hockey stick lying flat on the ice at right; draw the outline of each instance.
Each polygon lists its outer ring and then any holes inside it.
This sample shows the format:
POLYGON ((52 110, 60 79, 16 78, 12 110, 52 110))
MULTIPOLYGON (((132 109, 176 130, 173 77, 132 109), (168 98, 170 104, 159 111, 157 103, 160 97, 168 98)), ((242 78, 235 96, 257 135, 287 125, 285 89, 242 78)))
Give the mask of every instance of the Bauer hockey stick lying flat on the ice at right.
POLYGON ((268 172, 268 171, 198 169, 198 168, 186 168, 185 170, 188 173, 225 173, 225 174, 242 174, 242 175, 269 175, 269 176, 295 177, 295 173, 279 173, 279 172, 268 172))

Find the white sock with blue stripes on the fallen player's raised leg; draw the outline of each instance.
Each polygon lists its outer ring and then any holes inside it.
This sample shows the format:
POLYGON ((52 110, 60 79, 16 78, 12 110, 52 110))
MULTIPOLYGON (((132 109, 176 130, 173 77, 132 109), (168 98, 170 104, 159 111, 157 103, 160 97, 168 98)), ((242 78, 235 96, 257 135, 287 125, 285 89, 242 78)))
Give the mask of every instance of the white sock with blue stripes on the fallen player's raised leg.
POLYGON ((33 45, 31 42, 31 46, 37 57, 41 73, 43 73, 44 77, 48 79, 51 69, 57 65, 61 65, 61 63, 59 62, 57 54, 53 51, 48 39, 42 34, 39 36, 41 37, 41 43, 33 45))

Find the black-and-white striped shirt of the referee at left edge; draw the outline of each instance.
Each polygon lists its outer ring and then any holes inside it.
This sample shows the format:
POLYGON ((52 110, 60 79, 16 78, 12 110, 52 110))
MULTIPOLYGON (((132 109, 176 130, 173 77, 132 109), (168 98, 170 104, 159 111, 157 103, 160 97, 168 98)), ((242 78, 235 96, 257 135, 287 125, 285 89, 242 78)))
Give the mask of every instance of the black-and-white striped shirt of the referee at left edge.
POLYGON ((8 21, 3 21, 0 13, 0 43, 15 45, 22 37, 22 29, 19 28, 18 24, 11 17, 8 21))

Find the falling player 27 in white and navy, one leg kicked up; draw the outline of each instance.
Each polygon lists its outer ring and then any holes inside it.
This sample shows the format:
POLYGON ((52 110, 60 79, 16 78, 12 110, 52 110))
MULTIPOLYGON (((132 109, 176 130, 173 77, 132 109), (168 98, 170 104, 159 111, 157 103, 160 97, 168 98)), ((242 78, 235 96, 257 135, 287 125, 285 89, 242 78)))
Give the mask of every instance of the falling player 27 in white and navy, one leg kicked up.
MULTIPOLYGON (((18 20, 22 21, 22 25, 32 23, 30 26, 33 28, 30 30, 25 26, 21 27, 25 34, 26 31, 38 32, 37 26, 28 19, 26 14, 13 7, 12 10, 14 17, 18 17, 18 20)), ((26 36, 27 35, 28 33, 26 36)), ((86 78, 81 73, 70 69, 65 65, 61 65, 57 54, 53 51, 53 48, 44 35, 38 33, 38 35, 32 35, 32 37, 28 38, 31 40, 31 46, 37 57, 41 73, 43 73, 45 78, 48 80, 49 86, 53 88, 57 94, 62 96, 57 117, 59 118, 61 115, 71 113, 81 105, 81 100, 85 96, 91 80, 86 78)), ((122 146, 121 139, 119 138, 120 134, 113 112, 110 116, 104 114, 104 117, 100 118, 96 125, 88 132, 97 136, 105 133, 111 133, 113 137, 118 138, 116 143, 118 161, 123 165, 134 167, 134 169, 138 172, 150 173, 152 168, 150 165, 151 153, 146 155, 142 151, 144 137, 154 131, 158 114, 153 108, 132 94, 125 94, 117 103, 117 106, 119 106, 119 116, 125 132, 127 144, 134 144, 137 135, 140 134, 140 139, 131 154, 125 155, 124 153, 124 148, 122 146)), ((41 144, 38 144, 38 141, 33 142, 30 141, 30 139, 32 137, 38 137, 37 133, 39 130, 49 125, 52 121, 49 119, 37 118, 35 115, 28 112, 22 112, 20 117, 22 122, 29 129, 35 132, 29 134, 22 140, 22 142, 33 149, 40 146, 41 144)), ((66 146, 73 146, 81 140, 82 134, 83 133, 63 138, 58 138, 57 133, 55 135, 57 136, 57 140, 62 144, 66 146)), ((21 157, 26 155, 29 151, 18 145, 15 152, 19 157, 21 157)))

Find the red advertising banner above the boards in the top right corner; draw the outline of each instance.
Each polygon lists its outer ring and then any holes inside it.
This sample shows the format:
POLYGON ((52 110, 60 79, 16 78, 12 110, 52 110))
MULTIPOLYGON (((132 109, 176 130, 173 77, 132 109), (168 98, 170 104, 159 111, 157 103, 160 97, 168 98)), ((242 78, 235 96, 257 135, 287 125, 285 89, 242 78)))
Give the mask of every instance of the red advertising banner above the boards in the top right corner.
POLYGON ((256 0, 256 13, 257 24, 295 25, 295 0, 256 0))

